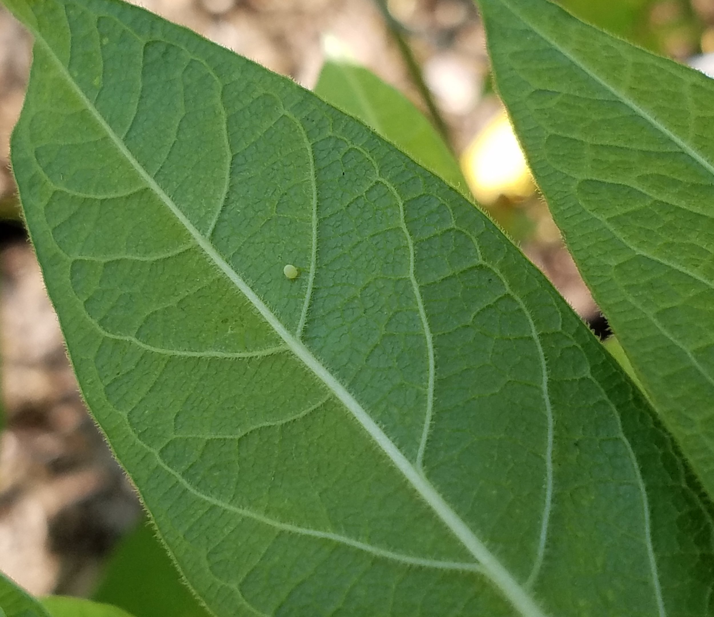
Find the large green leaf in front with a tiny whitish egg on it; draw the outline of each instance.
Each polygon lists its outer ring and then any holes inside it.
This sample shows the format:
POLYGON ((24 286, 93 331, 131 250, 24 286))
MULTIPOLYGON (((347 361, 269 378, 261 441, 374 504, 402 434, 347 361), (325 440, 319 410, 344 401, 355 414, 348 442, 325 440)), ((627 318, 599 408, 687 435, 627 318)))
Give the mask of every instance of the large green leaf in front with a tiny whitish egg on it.
POLYGON ((13 169, 71 360, 216 616, 708 612, 709 502, 483 213, 142 9, 9 6, 35 37, 13 169))

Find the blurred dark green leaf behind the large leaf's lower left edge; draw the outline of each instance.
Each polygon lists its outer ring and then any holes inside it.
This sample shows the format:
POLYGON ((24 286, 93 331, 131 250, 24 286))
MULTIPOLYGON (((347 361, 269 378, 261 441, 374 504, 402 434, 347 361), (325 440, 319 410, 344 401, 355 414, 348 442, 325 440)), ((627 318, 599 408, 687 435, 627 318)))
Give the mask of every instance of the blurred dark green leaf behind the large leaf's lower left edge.
POLYGON ((206 617, 181 582, 156 531, 140 524, 109 560, 94 600, 121 606, 136 617, 206 617))

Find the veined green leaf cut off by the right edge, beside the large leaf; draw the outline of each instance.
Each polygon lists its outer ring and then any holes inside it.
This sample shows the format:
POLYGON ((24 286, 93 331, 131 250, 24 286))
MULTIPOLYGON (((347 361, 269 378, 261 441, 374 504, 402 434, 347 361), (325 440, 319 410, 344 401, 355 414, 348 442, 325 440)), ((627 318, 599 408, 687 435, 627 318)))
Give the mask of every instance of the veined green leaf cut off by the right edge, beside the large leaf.
POLYGON ((555 222, 714 494, 714 81, 540 0, 482 0, 555 222))

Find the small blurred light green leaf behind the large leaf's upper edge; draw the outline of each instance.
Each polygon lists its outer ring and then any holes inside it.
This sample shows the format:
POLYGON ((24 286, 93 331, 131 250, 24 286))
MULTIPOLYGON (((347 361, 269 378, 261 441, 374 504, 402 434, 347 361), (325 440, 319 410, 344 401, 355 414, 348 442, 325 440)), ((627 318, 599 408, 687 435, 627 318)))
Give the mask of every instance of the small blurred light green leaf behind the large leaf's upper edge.
POLYGON ((315 93, 363 121, 467 198, 466 179, 446 143, 411 101, 374 73, 346 62, 324 64, 315 93))

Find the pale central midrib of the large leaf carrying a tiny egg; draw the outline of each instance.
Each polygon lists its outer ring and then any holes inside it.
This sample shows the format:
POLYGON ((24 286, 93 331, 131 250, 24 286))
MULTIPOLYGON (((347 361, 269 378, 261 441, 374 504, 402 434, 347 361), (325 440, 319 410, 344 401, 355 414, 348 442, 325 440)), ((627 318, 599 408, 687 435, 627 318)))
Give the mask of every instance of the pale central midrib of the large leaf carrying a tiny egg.
POLYGON ((73 89, 76 96, 79 97, 87 111, 91 113, 95 121, 101 126, 101 128, 106 132, 106 135, 114 143, 114 146, 121 153, 121 155, 126 158, 129 164, 136 170, 139 177, 144 180, 146 185, 155 193, 156 197, 161 200, 161 203, 166 205, 166 208, 171 212, 172 215, 176 217, 181 225, 186 228, 186 231, 191 235, 196 245, 203 250, 211 262, 213 262, 216 267, 218 267, 221 272, 230 280, 233 285, 235 285, 238 290, 256 307, 256 310, 261 314, 264 320, 275 330, 276 334, 281 337, 285 342, 286 346, 293 352, 296 357, 298 357, 303 364, 305 364, 308 369, 313 372, 313 374, 318 377, 318 379, 323 382, 323 384, 328 387, 328 389, 335 394, 335 396, 342 402, 346 407, 348 412, 356 419, 356 421, 361 424, 361 427, 367 432, 367 434, 374 440, 381 451, 391 460, 391 462, 396 466, 396 468, 401 471, 406 481, 413 487, 413 489, 418 493, 423 501, 431 507, 434 514, 443 522, 443 524, 453 533, 461 544, 468 550, 471 555, 481 564, 483 568, 483 574, 488 579, 490 579, 493 586, 498 588, 498 590, 503 594, 513 608, 521 613, 523 617, 547 617, 535 600, 531 597, 531 594, 526 591, 523 586, 521 586, 510 571, 501 564, 496 556, 488 550, 481 539, 474 534, 474 532, 466 525, 466 523, 461 519, 458 514, 451 508, 451 506, 446 502, 446 499, 441 496, 441 494, 436 490, 436 488, 431 484, 428 479, 426 479, 415 466, 408 461, 408 459, 402 454, 402 452, 396 447, 394 442, 383 432, 383 430, 374 422, 372 417, 366 412, 358 400, 353 397, 351 392, 348 392, 346 387, 341 384, 341 382, 336 379, 336 377, 320 362, 313 353, 308 350, 308 348, 289 332, 286 327, 278 320, 278 317, 273 313, 273 311, 263 302, 262 298, 253 290, 253 288, 248 285, 248 283, 243 280, 243 277, 233 270, 233 267, 218 253, 216 248, 211 245, 207 238, 205 238, 188 220, 186 215, 178 208, 178 205, 174 203, 169 195, 164 192, 164 189, 156 183, 151 175, 144 169, 144 167, 139 163, 134 155, 129 151, 123 141, 116 135, 114 130, 109 126, 103 116, 96 109, 94 103, 92 103, 89 98, 86 97, 84 91, 81 90, 79 85, 74 81, 71 74, 67 70, 66 66, 60 61, 56 56, 51 46, 42 38, 41 33, 35 31, 36 43, 44 46, 44 49, 49 53, 50 58, 57 66, 59 72, 64 76, 66 82, 73 89))

